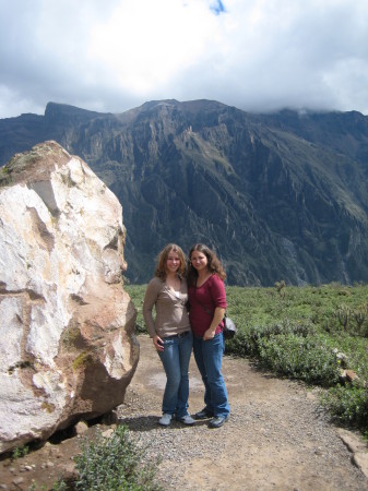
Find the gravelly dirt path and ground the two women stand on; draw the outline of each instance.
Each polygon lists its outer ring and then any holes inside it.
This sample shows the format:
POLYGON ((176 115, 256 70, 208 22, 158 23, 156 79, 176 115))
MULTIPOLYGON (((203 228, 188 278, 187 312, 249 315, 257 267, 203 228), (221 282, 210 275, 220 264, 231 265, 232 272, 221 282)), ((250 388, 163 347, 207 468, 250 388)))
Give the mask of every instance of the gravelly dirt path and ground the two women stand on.
MULTIPOLYGON (((140 363, 118 415, 132 434, 150 442, 152 454, 163 456, 158 478, 166 489, 368 490, 367 460, 357 459, 363 462, 361 471, 351 451, 364 457, 367 448, 351 432, 343 435, 352 442, 351 450, 346 446, 320 410, 316 391, 262 373, 248 360, 225 357, 232 416, 223 428, 210 430, 203 421, 194 427, 179 422, 159 427, 165 375, 151 339, 140 336, 139 340, 140 363)), ((203 386, 193 360, 190 388, 189 409, 195 412, 203 407, 203 386)), ((71 456, 79 444, 73 438, 1 462, 0 482, 5 487, 0 489, 28 490, 32 480, 39 489, 50 486, 57 476, 72 470, 71 456), (14 484, 16 479, 20 482, 14 484)))

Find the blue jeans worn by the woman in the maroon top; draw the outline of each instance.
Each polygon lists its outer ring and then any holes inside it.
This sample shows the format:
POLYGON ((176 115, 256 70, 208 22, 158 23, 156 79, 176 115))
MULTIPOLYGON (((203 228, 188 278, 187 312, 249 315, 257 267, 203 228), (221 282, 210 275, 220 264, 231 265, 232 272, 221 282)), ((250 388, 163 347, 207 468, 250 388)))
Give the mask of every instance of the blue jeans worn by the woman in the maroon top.
POLYGON ((230 412, 226 385, 221 373, 224 350, 223 333, 209 340, 195 336, 193 338, 194 359, 204 383, 204 404, 215 417, 226 417, 230 412))

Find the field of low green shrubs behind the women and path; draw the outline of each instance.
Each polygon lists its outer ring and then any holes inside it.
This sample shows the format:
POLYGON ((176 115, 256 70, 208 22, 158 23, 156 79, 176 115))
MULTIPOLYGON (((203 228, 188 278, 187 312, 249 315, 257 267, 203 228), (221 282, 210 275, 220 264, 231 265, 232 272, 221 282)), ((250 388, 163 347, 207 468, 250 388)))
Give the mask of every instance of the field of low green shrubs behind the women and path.
MULTIPOLYGON (((145 285, 127 285, 145 333, 145 285)), ((282 376, 319 385, 334 419, 368 435, 368 286, 226 287, 238 327, 226 352, 257 359, 282 376), (349 370, 354 381, 344 376, 349 370)))

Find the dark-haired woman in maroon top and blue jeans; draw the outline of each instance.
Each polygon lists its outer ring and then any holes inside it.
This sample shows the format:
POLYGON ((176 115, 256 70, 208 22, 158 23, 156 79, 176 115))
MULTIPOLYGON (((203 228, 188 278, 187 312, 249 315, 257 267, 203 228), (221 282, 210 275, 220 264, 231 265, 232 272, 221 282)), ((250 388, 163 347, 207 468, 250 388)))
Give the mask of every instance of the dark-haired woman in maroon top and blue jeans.
POLYGON ((205 407, 194 418, 212 418, 210 428, 222 427, 230 412, 221 372, 225 349, 225 271, 211 249, 202 243, 191 248, 188 265, 189 319, 193 332, 194 359, 205 388, 205 407))

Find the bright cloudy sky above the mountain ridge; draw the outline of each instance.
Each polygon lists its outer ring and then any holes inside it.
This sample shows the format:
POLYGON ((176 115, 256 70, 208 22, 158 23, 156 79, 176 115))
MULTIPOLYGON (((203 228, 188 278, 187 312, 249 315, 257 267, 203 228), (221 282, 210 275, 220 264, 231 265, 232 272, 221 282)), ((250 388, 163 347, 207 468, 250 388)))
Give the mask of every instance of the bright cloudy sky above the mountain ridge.
POLYGON ((0 0, 0 118, 170 98, 368 115, 368 2, 0 0))

